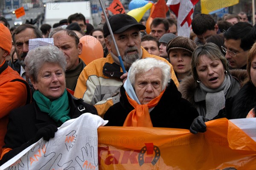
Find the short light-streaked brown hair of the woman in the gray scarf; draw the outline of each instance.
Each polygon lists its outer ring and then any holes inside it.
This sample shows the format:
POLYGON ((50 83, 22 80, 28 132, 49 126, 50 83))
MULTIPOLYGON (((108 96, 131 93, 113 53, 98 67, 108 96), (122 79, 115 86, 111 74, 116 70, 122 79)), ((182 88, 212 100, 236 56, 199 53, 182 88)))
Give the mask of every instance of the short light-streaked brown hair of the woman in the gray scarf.
POLYGON ((229 74, 227 59, 221 53, 221 50, 220 48, 218 48, 217 45, 215 45, 212 42, 209 42, 204 45, 199 45, 197 48, 195 48, 195 51, 192 53, 191 69, 192 69, 192 75, 195 81, 199 80, 199 77, 196 71, 196 66, 199 65, 200 57, 204 55, 212 60, 220 59, 224 67, 224 70, 226 70, 227 73, 229 74))

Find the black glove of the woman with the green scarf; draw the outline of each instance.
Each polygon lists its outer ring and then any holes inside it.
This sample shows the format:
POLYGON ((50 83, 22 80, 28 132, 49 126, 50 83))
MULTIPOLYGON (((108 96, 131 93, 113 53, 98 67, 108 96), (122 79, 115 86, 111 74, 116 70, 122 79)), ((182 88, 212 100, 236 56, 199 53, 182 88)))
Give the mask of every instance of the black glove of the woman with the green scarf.
MULTIPOLYGON (((42 127, 38 130, 38 132, 35 134, 35 138, 32 139, 29 143, 33 144, 35 142, 38 142, 39 139, 42 137, 44 140, 49 141, 50 138, 53 138, 55 136, 55 132, 57 132, 58 128, 55 125, 47 125, 45 127, 42 127)), ((30 145, 28 144, 28 145, 30 145)))

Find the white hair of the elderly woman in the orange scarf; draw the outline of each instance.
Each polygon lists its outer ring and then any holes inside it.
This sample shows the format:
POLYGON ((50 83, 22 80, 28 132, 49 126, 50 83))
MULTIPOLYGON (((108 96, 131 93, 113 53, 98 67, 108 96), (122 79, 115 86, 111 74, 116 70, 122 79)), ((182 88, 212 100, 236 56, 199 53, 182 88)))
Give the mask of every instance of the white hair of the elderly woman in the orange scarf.
POLYGON ((131 85, 134 87, 137 74, 144 74, 149 70, 153 72, 156 68, 160 68, 162 72, 163 91, 166 88, 169 80, 171 79, 171 68, 166 62, 151 57, 145 59, 138 59, 131 65, 131 68, 129 70, 129 80, 131 82, 131 85))

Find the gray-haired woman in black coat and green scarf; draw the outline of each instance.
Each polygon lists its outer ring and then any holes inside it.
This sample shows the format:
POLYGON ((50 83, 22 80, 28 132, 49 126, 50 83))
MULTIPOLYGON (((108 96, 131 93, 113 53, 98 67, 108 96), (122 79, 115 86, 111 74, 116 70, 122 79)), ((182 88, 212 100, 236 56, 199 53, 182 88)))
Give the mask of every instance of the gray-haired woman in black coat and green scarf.
POLYGON ((94 106, 76 99, 66 90, 66 57, 55 46, 29 51, 25 58, 26 75, 35 89, 34 102, 11 111, 0 165, 42 137, 55 136, 64 122, 82 113, 97 114, 94 106))

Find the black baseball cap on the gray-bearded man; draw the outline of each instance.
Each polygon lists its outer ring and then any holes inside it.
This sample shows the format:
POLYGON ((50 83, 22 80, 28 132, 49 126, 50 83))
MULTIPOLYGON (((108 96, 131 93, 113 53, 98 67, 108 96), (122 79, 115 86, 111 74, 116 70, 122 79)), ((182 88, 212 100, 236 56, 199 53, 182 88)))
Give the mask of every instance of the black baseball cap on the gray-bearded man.
MULTIPOLYGON (((139 24, 134 17, 131 17, 128 14, 115 14, 110 17, 108 21, 114 34, 122 33, 133 26, 139 28, 139 30, 146 29, 144 25, 139 24)), ((104 37, 107 37, 110 34, 107 23, 104 24, 103 31, 104 37)))

